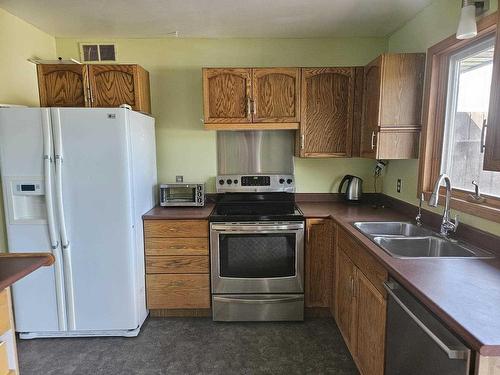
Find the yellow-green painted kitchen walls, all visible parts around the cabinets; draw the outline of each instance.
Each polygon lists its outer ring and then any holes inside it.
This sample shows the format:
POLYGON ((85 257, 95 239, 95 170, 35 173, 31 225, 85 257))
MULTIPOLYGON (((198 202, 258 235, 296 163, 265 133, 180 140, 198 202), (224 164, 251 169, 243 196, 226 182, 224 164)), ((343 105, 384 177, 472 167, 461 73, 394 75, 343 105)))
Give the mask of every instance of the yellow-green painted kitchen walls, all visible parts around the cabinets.
MULTIPOLYGON (((496 9, 497 0, 493 0, 492 10, 496 9)), ((364 65, 386 50, 426 51, 454 33, 459 11, 457 0, 436 0, 389 38, 117 39, 117 56, 120 63, 138 63, 150 72, 159 180, 182 174, 186 180, 207 181, 213 191, 216 142, 215 132, 203 130, 201 123, 202 67, 364 65)), ((54 39, 0 9, 0 103, 38 105, 35 68, 26 59, 35 55, 79 59, 80 41, 100 40, 54 39)), ((365 191, 373 191, 373 164, 364 159, 296 158, 298 191, 335 191, 345 173, 358 174, 365 179, 365 191)), ((417 171, 416 161, 392 161, 384 192, 416 203, 417 171), (402 193, 395 191, 398 177, 403 179, 402 193)), ((465 222, 500 234, 498 224, 461 216, 465 222)), ((0 215, 0 248, 5 246, 2 220, 0 215)))

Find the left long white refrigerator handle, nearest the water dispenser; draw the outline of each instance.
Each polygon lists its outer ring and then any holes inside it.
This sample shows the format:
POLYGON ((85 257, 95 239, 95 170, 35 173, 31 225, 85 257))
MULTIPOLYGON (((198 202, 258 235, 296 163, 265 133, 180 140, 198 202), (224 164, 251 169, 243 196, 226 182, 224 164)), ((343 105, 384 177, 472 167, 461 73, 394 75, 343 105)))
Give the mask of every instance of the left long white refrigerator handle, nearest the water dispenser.
POLYGON ((50 128, 50 114, 47 109, 42 110, 42 134, 43 134, 43 173, 45 185, 45 205, 47 207, 47 224, 49 230, 50 246, 55 258, 54 277, 56 282, 56 303, 57 303, 57 321, 59 329, 65 331, 66 309, 64 295, 64 275, 62 269, 62 254, 59 243, 59 236, 56 231, 54 216, 54 199, 52 196, 52 132, 50 128))

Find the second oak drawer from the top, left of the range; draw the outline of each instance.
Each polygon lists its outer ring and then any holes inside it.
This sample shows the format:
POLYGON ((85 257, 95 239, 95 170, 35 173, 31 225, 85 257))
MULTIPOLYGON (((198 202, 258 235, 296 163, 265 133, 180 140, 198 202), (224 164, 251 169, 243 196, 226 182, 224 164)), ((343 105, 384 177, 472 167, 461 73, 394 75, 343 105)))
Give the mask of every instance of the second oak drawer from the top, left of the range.
POLYGON ((146 255, 208 255, 208 238, 148 238, 146 255))

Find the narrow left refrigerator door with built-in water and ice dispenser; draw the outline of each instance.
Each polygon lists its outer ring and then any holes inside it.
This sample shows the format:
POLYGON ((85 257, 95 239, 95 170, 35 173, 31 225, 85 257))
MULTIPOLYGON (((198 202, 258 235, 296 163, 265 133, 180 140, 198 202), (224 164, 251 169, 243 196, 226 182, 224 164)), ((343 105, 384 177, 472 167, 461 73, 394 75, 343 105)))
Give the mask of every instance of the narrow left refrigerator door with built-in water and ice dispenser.
MULTIPOLYGON (((20 182, 25 185, 32 182, 36 188, 38 181, 40 189, 45 186, 42 116, 47 115, 47 110, 40 108, 0 109, 0 173, 8 246, 12 253, 51 251, 53 241, 49 237, 44 195, 30 195, 28 192, 23 195, 22 187, 19 191, 17 189, 20 182), (19 197, 24 200, 25 212, 32 213, 20 221, 15 217, 15 206, 23 201, 19 197), (38 203, 35 203, 35 198, 38 203), (32 209, 32 204, 42 205, 44 209, 32 209)), ((13 285, 16 329, 19 332, 65 329, 64 301, 58 300, 57 293, 63 285, 56 283, 62 279, 61 274, 56 275, 56 270, 62 271, 58 255, 60 247, 56 246, 52 251, 56 256, 56 266, 43 267, 13 285)))

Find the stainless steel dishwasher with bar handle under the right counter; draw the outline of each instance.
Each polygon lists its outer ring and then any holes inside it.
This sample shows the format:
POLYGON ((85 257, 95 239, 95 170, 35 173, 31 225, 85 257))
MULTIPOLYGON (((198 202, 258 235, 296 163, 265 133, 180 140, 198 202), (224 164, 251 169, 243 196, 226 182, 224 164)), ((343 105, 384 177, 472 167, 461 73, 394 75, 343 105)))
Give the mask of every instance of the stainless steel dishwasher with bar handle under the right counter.
POLYGON ((393 279, 389 293, 385 375, 469 374, 471 351, 393 279))

